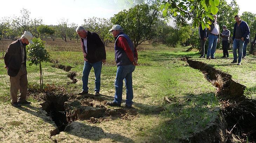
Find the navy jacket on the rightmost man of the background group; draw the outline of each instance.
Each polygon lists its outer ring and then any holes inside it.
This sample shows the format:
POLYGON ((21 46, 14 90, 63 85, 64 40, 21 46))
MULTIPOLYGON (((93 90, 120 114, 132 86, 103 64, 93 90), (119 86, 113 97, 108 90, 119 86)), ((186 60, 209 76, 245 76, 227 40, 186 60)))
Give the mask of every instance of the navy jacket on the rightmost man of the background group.
MULTIPOLYGON (((234 24, 233 41, 234 41, 235 36, 236 36, 236 25, 237 25, 237 22, 234 24)), ((241 28, 241 30, 242 30, 242 33, 243 33, 242 37, 244 38, 245 43, 249 43, 250 29, 249 29, 248 24, 245 21, 241 20, 241 23, 240 23, 238 28, 241 28)))

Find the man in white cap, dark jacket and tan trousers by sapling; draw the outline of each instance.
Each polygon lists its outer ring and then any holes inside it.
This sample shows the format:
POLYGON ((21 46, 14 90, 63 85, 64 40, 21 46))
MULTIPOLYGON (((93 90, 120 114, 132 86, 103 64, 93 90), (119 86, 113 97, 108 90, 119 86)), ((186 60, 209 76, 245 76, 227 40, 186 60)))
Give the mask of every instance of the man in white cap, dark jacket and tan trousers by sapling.
POLYGON ((5 53, 5 68, 7 68, 7 73, 10 76, 11 104, 14 107, 20 107, 20 104, 30 104, 26 100, 28 90, 26 45, 33 44, 32 37, 30 32, 25 31, 20 39, 8 46, 5 53), (17 99, 18 90, 20 90, 19 99, 17 99))

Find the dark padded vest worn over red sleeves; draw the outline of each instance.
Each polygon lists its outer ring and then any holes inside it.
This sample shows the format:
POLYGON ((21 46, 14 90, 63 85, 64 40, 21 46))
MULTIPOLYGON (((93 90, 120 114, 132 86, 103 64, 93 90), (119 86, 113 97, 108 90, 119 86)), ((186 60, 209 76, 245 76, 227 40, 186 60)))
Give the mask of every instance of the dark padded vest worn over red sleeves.
POLYGON ((119 35, 117 35, 115 37, 115 61, 116 61, 116 65, 117 66, 131 65, 133 63, 129 60, 125 51, 122 48, 117 46, 117 40, 118 40, 119 37, 126 38, 126 40, 128 42, 128 45, 129 45, 129 48, 133 51, 133 54, 134 54, 134 47, 133 47, 132 40, 129 38, 128 35, 126 35, 123 32, 120 32, 119 35))

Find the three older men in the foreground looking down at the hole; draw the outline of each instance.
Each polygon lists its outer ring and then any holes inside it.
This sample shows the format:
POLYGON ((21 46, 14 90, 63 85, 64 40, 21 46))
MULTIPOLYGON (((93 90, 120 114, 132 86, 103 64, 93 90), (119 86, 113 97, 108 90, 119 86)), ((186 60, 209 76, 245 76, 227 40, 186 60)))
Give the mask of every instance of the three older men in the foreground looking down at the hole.
MULTIPOLYGON (((83 76, 82 76, 82 91, 78 95, 85 95, 88 93, 88 76, 92 67, 95 74, 95 88, 94 95, 100 96, 101 85, 101 69, 102 63, 106 62, 105 45, 100 39, 99 35, 94 32, 86 31, 83 27, 76 28, 76 32, 81 37, 81 48, 84 58, 83 76)), ((133 81, 132 73, 138 61, 137 50, 134 47, 132 40, 123 32, 120 25, 113 25, 109 30, 115 38, 115 61, 117 65, 116 79, 115 79, 115 97, 111 102, 107 102, 109 106, 121 106, 123 80, 126 85, 126 101, 123 105, 131 108, 133 104, 133 81)), ((20 107, 21 104, 30 104, 26 100, 28 90, 27 68, 26 68, 26 45, 32 42, 32 34, 25 31, 18 40, 14 41, 8 46, 5 53, 4 61, 7 73, 10 76, 10 91, 12 106, 20 107), (17 99, 18 91, 20 96, 17 99)))

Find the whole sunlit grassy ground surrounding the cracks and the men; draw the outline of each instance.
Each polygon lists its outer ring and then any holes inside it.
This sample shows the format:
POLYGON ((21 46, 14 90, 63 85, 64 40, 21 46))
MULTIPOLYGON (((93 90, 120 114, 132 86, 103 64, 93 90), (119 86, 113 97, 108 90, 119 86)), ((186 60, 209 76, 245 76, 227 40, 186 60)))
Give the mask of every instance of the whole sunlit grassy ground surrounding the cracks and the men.
MULTIPOLYGON (((251 88, 251 92, 255 90, 256 66, 255 61, 250 60, 255 57, 248 56, 238 67, 229 64, 231 58, 215 61, 198 59, 197 51, 183 52, 187 48, 170 48, 165 45, 153 47, 147 43, 137 48, 139 66, 133 72, 133 110, 137 112, 134 119, 124 120, 120 118, 96 124, 86 120, 75 121, 72 122, 72 127, 80 127, 81 130, 73 129, 61 132, 53 136, 52 139, 58 142, 180 142, 209 128, 218 119, 220 111, 220 104, 215 96, 216 88, 206 80, 201 71, 189 67, 187 62, 180 60, 185 55, 227 71, 233 75, 234 79, 251 88), (170 103, 166 103, 165 97, 171 100, 170 103)), ((83 55, 80 51, 80 43, 76 41, 69 41, 68 43, 61 40, 50 41, 47 50, 51 59, 58 60, 62 65, 73 67, 71 71, 77 73, 78 82, 67 84, 71 81, 67 77, 68 72, 53 68, 53 63, 43 63, 45 84, 63 86, 70 94, 76 95, 82 90, 83 55)), ((103 96, 108 97, 107 101, 112 101, 115 93, 114 80, 117 68, 114 61, 113 43, 106 47, 106 51, 107 63, 102 67, 100 92, 103 96)), ((222 56, 221 52, 217 51, 217 58, 222 56)), ((4 67, 3 59, 0 59, 0 67, 4 67)), ((27 66, 27 70, 29 87, 39 84, 39 66, 27 66)), ((1 110, 8 110, 7 116, 4 114, 6 112, 0 113, 0 116, 9 119, 9 116, 16 114, 19 110, 10 106, 9 77, 6 74, 6 69, 0 68, 0 78, 0 107, 1 110)), ((93 69, 89 75, 88 86, 89 93, 93 93, 93 69)), ((126 97, 125 92, 125 88, 123 88, 124 99, 126 97)), ((39 101, 32 97, 29 100, 33 101, 33 110, 37 109, 43 113, 39 108, 39 101)), ((30 109, 29 107, 24 108, 21 112, 24 112, 25 116, 32 114, 26 112, 30 109)), ((47 126, 47 129, 50 130, 54 126, 45 119, 42 120, 39 115, 32 115, 37 117, 35 118, 36 122, 41 122, 42 125, 47 126)), ((42 138, 42 134, 38 134, 38 132, 43 130, 43 126, 33 128, 31 127, 33 124, 31 126, 26 125, 23 129, 24 133, 21 132, 23 127, 21 125, 24 125, 26 120, 26 118, 16 118, 15 122, 18 124, 15 125, 13 125, 14 123, 1 122, 0 141, 12 141, 6 137, 12 134, 18 134, 15 138, 19 138, 22 142, 42 138), (29 137, 23 136, 26 133, 26 128, 33 128, 33 132, 26 134, 29 137)), ((45 134, 43 138, 47 139, 40 139, 39 141, 53 142, 48 134, 45 134)))

